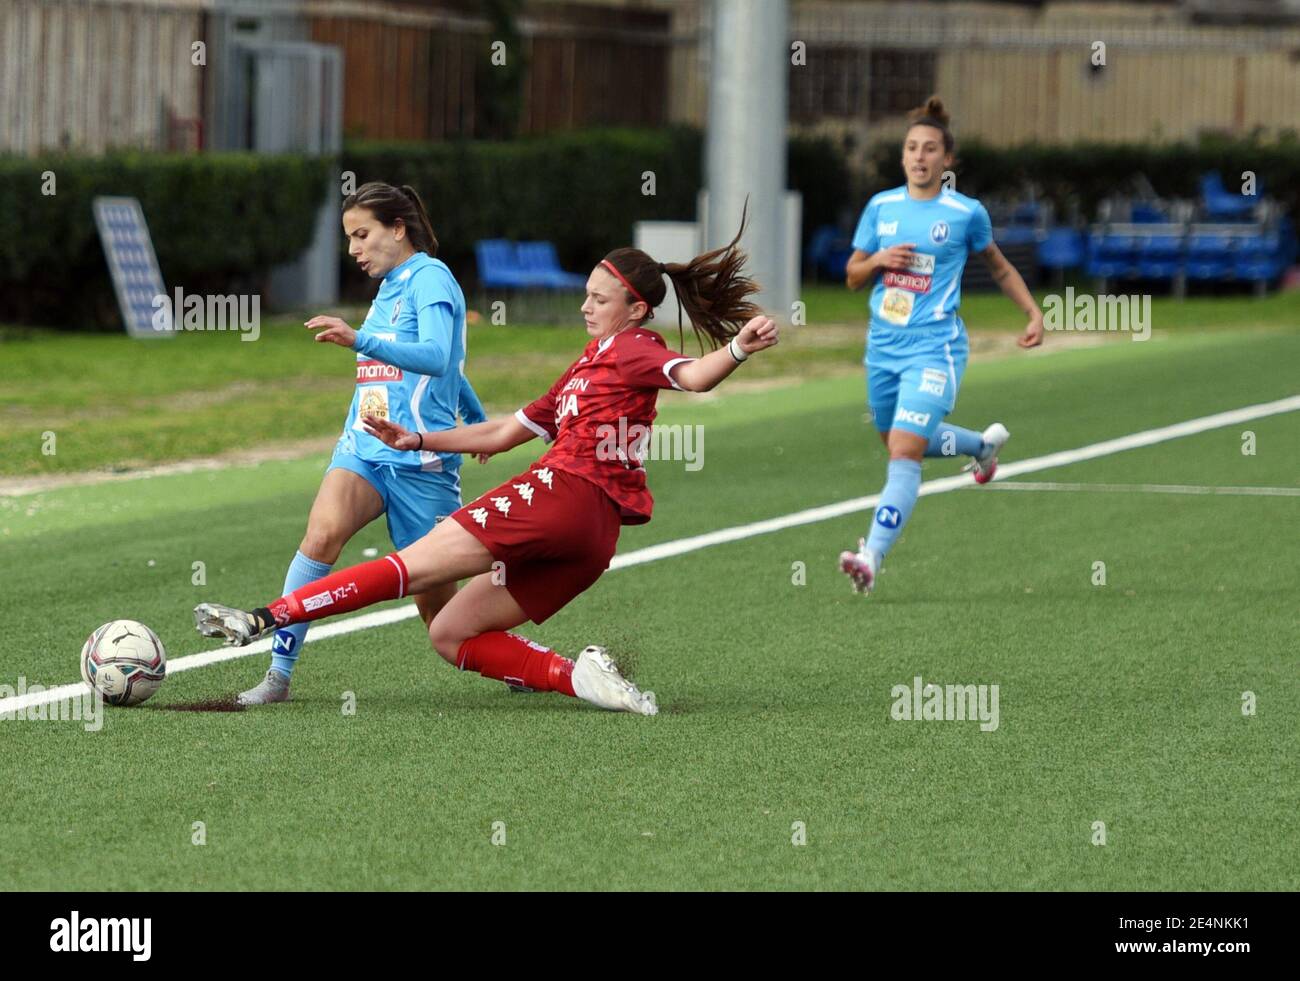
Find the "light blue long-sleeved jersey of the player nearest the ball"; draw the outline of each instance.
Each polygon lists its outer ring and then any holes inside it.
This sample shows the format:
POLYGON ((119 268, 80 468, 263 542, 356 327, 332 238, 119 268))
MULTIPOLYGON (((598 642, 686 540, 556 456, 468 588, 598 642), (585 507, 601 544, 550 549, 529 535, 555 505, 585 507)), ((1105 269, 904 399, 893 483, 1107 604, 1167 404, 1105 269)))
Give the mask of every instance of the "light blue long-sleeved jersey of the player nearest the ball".
MULTIPOLYGON (((338 450, 370 464, 459 470, 460 453, 394 450, 365 431, 361 414, 412 433, 451 429, 468 387, 465 298, 445 262, 416 252, 384 277, 358 329, 356 394, 338 450)), ((477 421, 477 420, 473 420, 477 421)))

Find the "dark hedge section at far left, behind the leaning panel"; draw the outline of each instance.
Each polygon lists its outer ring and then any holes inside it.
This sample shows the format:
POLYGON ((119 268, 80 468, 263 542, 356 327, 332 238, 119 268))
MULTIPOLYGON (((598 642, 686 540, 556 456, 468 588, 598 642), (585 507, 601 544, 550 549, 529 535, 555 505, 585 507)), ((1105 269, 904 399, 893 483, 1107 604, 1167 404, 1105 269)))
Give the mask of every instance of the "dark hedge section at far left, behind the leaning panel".
POLYGON ((96 195, 140 200, 169 287, 259 288, 268 266, 311 240, 303 216, 320 205, 333 169, 252 153, 0 157, 0 321, 118 324, 96 195))

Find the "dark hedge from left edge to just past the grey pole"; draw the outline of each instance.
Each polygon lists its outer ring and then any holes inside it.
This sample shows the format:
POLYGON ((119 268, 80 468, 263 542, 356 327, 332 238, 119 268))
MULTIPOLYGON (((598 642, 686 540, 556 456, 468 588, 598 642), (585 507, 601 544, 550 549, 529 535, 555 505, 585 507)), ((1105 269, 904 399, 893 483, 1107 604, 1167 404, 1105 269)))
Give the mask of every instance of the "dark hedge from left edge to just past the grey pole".
MULTIPOLYGON (((702 157, 699 131, 686 127, 508 143, 359 143, 339 161, 246 153, 0 157, 0 321, 117 322, 91 209, 99 194, 140 199, 168 286, 237 292, 261 288, 270 265, 302 251, 311 238, 304 216, 330 186, 343 187, 343 172, 358 183, 410 183, 429 207, 439 256, 468 286, 476 239, 549 239, 567 268, 585 269, 594 256, 628 244, 636 221, 693 218, 702 157), (53 195, 40 192, 47 172, 53 195), (642 192, 646 172, 654 194, 642 192)), ((789 173, 805 192, 805 229, 832 221, 849 181, 844 155, 797 139, 789 173)), ((364 291, 364 277, 351 264, 343 268, 344 281, 364 291)))

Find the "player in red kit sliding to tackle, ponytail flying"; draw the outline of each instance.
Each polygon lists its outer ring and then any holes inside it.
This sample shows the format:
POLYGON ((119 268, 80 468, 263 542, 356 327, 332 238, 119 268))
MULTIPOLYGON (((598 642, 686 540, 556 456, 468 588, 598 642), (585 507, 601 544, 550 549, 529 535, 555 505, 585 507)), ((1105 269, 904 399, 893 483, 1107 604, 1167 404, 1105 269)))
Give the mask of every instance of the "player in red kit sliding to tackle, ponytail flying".
POLYGON ((372 435, 411 452, 499 453, 534 437, 551 448, 398 552, 252 612, 200 604, 199 633, 242 646, 286 624, 472 577, 429 624, 429 639, 447 661, 516 687, 655 715, 654 693, 623 678, 604 648, 588 647, 571 661, 508 631, 525 620, 543 622, 582 592, 608 568, 620 526, 650 520, 646 440, 619 446, 610 434, 649 434, 660 389, 708 391, 777 342, 776 324, 748 299, 758 287, 741 272, 738 240, 689 262, 656 262, 634 248, 610 252, 588 277, 582 316, 592 339, 582 356, 514 416, 437 433, 367 418, 372 435), (710 353, 680 355, 645 326, 667 295, 664 275, 710 353))

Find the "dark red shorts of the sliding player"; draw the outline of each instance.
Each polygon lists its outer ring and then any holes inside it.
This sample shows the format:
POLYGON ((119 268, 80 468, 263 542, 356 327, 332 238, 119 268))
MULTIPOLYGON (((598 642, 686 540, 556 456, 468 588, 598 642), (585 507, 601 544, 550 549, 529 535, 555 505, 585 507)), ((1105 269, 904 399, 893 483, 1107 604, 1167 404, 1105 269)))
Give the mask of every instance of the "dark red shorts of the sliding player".
POLYGON ((534 466, 451 515, 504 563, 506 589, 534 624, 610 568, 619 505, 581 477, 534 466))

